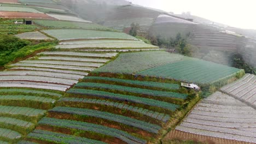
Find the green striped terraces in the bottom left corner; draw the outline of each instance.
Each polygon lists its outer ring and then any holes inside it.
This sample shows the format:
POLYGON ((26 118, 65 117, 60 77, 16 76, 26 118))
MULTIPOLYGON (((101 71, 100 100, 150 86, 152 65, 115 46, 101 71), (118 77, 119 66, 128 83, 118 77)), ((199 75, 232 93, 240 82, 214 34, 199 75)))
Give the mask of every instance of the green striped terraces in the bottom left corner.
POLYGON ((61 96, 60 92, 46 89, 0 88, 0 140, 6 143, 21 140, 61 96))

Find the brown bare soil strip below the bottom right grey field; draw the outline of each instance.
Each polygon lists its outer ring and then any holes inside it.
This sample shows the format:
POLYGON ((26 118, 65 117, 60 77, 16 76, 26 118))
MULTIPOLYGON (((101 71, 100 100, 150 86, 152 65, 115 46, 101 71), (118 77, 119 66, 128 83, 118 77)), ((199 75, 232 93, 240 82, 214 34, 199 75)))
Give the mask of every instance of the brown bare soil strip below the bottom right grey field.
POLYGON ((212 136, 204 136, 204 135, 196 135, 196 134, 190 134, 190 133, 185 133, 183 131, 179 130, 172 130, 170 133, 168 133, 162 143, 168 143, 168 140, 193 140, 196 142, 203 142, 203 143, 218 143, 218 144, 246 144, 249 142, 243 142, 243 141, 235 141, 235 140, 228 140, 228 139, 221 139, 217 137, 212 137, 212 136))

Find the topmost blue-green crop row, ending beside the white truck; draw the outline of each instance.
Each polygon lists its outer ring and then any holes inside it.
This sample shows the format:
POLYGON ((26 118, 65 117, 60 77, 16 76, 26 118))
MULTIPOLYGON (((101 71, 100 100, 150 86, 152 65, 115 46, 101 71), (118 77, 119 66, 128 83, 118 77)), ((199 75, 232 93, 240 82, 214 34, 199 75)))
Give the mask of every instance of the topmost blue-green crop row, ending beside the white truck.
POLYGON ((117 79, 117 78, 110 78, 110 77, 86 76, 84 77, 84 80, 104 80, 104 81, 111 81, 111 82, 127 83, 130 85, 138 85, 138 86, 158 87, 158 88, 165 88, 165 89, 179 89, 179 85, 172 84, 172 83, 124 80, 124 79, 117 79))

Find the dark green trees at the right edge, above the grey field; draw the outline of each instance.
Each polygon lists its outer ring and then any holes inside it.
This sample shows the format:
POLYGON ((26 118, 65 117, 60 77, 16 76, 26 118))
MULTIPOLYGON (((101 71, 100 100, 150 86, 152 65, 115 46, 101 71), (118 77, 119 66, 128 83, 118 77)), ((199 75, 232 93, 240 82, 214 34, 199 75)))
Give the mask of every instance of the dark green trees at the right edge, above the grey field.
POLYGON ((238 69, 244 69, 246 73, 256 74, 255 68, 251 67, 251 65, 247 64, 241 54, 237 53, 232 56, 232 67, 238 69))

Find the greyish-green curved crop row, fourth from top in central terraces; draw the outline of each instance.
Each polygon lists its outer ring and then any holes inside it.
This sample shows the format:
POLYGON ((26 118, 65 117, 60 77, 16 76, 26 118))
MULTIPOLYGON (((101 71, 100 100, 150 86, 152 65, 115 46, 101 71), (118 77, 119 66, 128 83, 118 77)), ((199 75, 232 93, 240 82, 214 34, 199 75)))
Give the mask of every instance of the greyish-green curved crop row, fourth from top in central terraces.
POLYGON ((129 110, 133 112, 141 113, 142 115, 146 115, 149 117, 156 118, 160 121, 167 122, 170 119, 169 115, 165 115, 164 113, 154 112, 147 109, 143 109, 141 107, 130 106, 123 103, 114 103, 112 101, 107 100, 97 100, 97 99, 80 99, 80 98, 62 98, 60 101, 72 101, 79 103, 90 103, 90 104, 101 104, 108 105, 113 107, 118 107, 119 109, 129 110))

